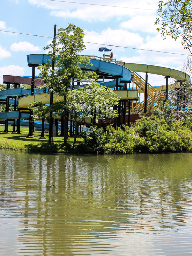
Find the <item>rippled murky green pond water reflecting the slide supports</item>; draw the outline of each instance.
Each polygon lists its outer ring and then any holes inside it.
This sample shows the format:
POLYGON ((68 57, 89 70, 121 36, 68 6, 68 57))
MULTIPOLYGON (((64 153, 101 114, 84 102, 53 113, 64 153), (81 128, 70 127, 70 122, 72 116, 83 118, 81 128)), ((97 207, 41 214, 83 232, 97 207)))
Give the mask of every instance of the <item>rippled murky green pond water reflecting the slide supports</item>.
POLYGON ((0 151, 0 163, 0 255, 192 254, 189 153, 0 151))

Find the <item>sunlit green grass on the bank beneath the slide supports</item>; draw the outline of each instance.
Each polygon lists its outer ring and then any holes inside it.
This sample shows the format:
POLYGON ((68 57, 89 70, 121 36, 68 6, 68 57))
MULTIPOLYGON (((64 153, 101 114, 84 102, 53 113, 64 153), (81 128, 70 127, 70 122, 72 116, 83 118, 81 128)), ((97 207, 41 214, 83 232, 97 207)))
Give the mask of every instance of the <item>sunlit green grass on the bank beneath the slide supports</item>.
MULTIPOLYGON (((8 126, 9 133, 5 133, 4 126, 0 126, 0 149, 8 150, 30 150, 30 151, 50 151, 50 152, 66 152, 63 147, 63 137, 53 137, 53 144, 48 143, 49 133, 45 133, 46 139, 39 139, 41 131, 34 132, 34 138, 26 138, 29 128, 21 127, 22 134, 12 134, 13 127, 8 126)), ((69 137, 67 148, 73 145, 74 137, 69 137)), ((77 144, 82 139, 77 137, 77 144)))

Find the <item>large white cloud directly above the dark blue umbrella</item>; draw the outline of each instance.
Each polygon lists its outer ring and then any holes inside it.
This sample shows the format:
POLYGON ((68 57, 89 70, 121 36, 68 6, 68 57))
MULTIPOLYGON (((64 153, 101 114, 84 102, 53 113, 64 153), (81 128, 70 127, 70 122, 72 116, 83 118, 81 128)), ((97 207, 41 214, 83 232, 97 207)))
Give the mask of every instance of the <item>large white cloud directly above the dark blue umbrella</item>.
MULTIPOLYGON (((105 44, 117 46, 138 46, 143 43, 143 38, 139 34, 131 33, 124 29, 107 28, 101 32, 84 30, 84 34, 85 42, 100 43, 103 44, 103 46, 105 46, 105 44)), ((86 50, 96 48, 98 48, 98 45, 86 43, 86 50)), ((121 50, 124 49, 121 48, 121 50)))

